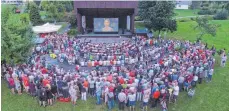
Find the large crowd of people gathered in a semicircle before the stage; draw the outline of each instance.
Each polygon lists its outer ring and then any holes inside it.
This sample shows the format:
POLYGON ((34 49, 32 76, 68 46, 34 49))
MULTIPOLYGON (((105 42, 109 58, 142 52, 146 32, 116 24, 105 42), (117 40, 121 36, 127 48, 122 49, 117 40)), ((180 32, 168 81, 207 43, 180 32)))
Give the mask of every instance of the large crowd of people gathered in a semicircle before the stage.
MULTIPOLYGON (((56 100, 70 99, 75 105, 95 97, 97 105, 106 104, 109 110, 118 104, 119 110, 133 111, 139 101, 143 110, 160 105, 166 111, 179 92, 193 97, 195 87, 211 82, 214 73, 216 50, 200 42, 134 36, 119 43, 93 43, 67 34, 46 39, 34 47, 27 63, 3 65, 12 93, 26 92, 44 107, 56 100), (51 64, 44 55, 74 69, 51 64)), ((223 51, 221 66, 226 60, 223 51)))

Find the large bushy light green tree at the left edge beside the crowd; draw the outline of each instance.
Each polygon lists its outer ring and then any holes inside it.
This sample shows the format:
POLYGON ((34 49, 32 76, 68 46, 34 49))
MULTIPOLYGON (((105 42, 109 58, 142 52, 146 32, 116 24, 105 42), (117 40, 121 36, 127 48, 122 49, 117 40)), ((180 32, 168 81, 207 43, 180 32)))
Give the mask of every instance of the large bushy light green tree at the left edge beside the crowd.
POLYGON ((22 19, 21 16, 12 14, 13 11, 9 8, 2 10, 2 13, 4 22, 1 30, 1 60, 5 60, 8 64, 23 63, 30 55, 30 48, 33 45, 31 26, 24 16, 22 19))

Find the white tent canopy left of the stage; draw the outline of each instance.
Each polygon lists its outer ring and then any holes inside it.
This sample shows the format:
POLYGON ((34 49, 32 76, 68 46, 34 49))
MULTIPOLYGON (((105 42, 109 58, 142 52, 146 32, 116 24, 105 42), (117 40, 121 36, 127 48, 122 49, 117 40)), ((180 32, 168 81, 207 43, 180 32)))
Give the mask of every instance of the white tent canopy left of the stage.
POLYGON ((57 32, 61 28, 61 25, 54 25, 54 24, 49 24, 46 23, 41 26, 34 26, 33 27, 33 32, 34 33, 51 33, 51 32, 57 32))

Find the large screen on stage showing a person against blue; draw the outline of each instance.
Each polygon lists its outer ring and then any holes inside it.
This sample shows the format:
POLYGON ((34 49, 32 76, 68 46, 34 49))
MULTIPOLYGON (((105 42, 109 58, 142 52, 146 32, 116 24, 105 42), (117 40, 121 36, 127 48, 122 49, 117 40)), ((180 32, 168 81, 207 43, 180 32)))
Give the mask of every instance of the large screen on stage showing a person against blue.
POLYGON ((94 32, 118 32, 118 18, 94 18, 94 32))

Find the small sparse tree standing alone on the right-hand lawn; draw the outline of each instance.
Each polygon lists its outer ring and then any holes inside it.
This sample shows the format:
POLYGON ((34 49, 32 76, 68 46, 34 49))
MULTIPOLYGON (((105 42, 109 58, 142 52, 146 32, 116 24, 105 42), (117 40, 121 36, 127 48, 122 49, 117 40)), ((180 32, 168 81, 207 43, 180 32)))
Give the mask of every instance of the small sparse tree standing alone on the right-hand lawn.
POLYGON ((211 36, 216 36, 217 25, 209 22, 207 17, 197 17, 197 25, 194 27, 194 30, 198 30, 197 39, 201 39, 205 34, 210 34, 211 36))

